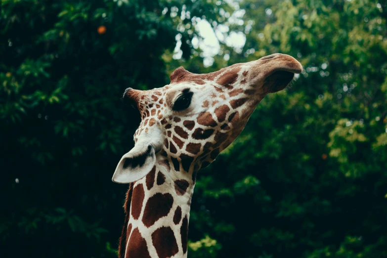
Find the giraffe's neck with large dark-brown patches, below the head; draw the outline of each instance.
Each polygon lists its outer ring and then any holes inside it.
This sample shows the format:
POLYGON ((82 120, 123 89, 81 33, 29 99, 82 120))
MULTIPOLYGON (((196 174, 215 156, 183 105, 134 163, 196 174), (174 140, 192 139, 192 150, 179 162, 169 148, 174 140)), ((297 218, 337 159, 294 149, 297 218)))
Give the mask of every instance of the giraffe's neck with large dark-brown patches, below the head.
POLYGON ((125 246, 120 247, 120 257, 187 256, 192 176, 175 172, 167 160, 158 160, 151 172, 129 189, 125 204, 127 223, 122 235, 125 246))

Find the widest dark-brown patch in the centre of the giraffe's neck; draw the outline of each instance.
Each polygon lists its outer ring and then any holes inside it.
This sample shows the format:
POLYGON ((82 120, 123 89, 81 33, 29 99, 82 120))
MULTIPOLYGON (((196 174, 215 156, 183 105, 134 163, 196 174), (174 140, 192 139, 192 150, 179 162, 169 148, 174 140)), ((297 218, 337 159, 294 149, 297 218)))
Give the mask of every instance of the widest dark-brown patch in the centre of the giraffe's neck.
POLYGON ((156 193, 146 202, 142 223, 146 227, 153 225, 158 219, 169 214, 173 204, 173 197, 169 193, 156 193), (157 212, 155 212, 157 211, 157 212))

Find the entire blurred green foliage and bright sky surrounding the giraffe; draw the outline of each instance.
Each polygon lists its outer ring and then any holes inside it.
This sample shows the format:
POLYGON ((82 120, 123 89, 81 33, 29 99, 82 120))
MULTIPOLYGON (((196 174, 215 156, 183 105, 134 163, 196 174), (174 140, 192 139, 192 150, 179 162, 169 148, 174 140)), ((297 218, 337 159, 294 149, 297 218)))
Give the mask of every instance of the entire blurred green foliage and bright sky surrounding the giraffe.
POLYGON ((127 87, 304 70, 198 174, 189 258, 387 257, 385 0, 1 0, 0 257, 114 258, 127 87))

